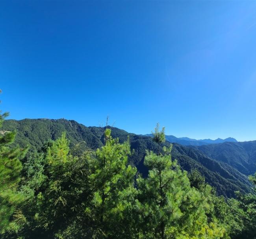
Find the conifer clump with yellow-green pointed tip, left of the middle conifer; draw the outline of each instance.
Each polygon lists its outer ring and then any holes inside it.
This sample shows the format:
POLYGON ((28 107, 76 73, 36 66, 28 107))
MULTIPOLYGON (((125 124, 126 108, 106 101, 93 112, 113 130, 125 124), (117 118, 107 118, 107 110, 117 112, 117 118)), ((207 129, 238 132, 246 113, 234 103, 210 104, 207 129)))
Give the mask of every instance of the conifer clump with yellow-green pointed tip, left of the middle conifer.
POLYGON ((26 239, 86 238, 88 220, 83 212, 90 201, 89 157, 90 151, 71 155, 65 133, 45 152, 30 155, 22 187, 30 195, 24 208, 28 223, 20 235, 26 239), (78 231, 81 225, 83 230, 78 231))

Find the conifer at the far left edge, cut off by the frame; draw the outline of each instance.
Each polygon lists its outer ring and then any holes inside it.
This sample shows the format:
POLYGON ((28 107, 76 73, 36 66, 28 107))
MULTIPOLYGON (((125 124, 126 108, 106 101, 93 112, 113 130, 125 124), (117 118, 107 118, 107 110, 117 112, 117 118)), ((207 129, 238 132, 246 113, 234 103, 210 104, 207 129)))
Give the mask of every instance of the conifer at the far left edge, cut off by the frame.
MULTIPOLYGON (((0 128, 7 116, 8 113, 1 114, 0 111, 0 128)), ((15 227, 15 223, 10 224, 10 219, 21 216, 18 207, 24 200, 22 193, 17 192, 17 187, 22 170, 20 159, 27 150, 9 147, 15 134, 0 131, 0 233, 10 229, 10 226, 15 227)))

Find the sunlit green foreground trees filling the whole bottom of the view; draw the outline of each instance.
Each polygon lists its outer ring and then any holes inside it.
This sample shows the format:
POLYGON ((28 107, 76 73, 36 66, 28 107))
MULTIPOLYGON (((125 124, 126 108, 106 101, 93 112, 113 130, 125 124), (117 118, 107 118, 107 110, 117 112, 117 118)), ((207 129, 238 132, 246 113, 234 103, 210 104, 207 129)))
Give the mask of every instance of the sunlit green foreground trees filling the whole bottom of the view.
POLYGON ((256 238, 255 190, 217 196, 198 170, 187 174, 172 159, 158 127, 142 177, 128 164, 129 139, 111 135, 106 128, 97 150, 70 150, 62 133, 24 158, 26 150, 9 146, 15 133, 2 133, 0 238, 256 238))

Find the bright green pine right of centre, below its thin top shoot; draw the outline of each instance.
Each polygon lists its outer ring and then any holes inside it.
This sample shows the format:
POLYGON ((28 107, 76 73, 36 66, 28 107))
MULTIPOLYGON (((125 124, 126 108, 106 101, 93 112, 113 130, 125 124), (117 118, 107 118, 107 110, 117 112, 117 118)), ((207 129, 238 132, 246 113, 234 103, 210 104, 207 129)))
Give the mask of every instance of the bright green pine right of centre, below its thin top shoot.
POLYGON ((141 239, 218 239, 224 228, 208 222, 212 205, 196 188, 191 188, 187 173, 171 160, 171 148, 164 155, 148 152, 144 164, 148 177, 137 180, 141 239))

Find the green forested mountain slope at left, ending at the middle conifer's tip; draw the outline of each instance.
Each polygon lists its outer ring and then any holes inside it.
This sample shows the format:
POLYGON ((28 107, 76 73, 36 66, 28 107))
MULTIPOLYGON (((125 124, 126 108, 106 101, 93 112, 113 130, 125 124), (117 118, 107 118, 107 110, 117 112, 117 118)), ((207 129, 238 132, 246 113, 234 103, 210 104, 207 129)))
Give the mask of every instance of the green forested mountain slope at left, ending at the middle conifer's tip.
POLYGON ((30 144, 32 148, 39 149, 46 141, 50 139, 55 140, 60 137, 61 133, 64 131, 67 132, 67 137, 72 146, 81 141, 85 141, 87 146, 92 149, 96 149, 103 145, 96 131, 92 131, 90 128, 83 124, 79 124, 74 120, 6 120, 2 129, 17 131, 15 142, 22 147, 30 144))

